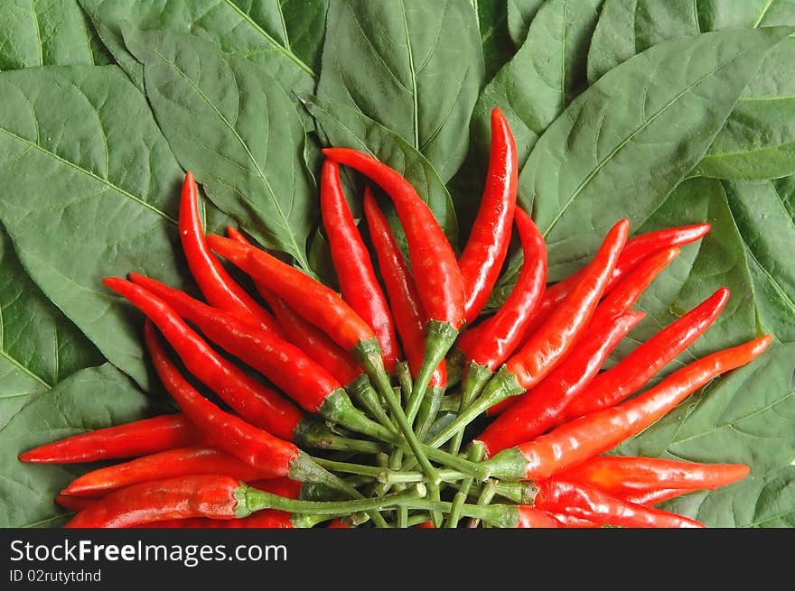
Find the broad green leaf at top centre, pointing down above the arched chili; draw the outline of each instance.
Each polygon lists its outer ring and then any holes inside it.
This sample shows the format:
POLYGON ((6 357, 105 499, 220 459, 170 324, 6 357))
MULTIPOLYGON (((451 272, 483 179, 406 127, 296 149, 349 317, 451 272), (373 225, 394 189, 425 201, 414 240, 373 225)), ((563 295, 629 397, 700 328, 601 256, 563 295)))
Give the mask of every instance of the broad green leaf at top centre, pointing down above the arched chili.
POLYGON ((391 129, 449 180, 483 80, 470 0, 333 2, 328 29, 318 97, 391 129))

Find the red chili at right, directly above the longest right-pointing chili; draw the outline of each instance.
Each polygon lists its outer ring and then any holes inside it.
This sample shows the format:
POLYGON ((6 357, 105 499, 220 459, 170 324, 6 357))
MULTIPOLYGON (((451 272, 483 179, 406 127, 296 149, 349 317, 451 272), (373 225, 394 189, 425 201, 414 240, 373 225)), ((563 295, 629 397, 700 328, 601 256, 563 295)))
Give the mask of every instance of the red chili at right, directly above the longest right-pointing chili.
POLYGON ((562 422, 615 406, 659 372, 706 332, 723 311, 729 291, 721 288, 680 319, 642 343, 609 370, 594 378, 566 407, 562 422))

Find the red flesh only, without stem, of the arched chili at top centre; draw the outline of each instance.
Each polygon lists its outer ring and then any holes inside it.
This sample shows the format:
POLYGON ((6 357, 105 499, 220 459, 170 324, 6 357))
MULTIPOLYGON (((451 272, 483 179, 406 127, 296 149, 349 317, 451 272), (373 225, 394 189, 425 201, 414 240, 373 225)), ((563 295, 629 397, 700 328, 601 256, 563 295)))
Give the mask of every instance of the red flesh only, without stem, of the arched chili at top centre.
POLYGON ((453 247, 426 202, 399 172, 364 152, 325 148, 323 153, 360 171, 387 192, 406 232, 417 291, 428 318, 448 323, 456 330, 461 328, 464 319, 461 270, 453 247))

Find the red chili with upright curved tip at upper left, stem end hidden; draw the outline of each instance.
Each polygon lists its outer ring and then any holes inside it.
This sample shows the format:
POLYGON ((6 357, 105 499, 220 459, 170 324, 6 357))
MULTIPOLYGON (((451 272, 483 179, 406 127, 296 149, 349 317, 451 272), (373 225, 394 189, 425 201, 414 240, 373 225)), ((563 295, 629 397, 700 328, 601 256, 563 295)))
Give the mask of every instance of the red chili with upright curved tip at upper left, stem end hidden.
POLYGON ((182 184, 179 230, 188 266, 207 301, 239 319, 255 322, 279 334, 276 319, 231 278, 218 258, 210 252, 201 227, 199 189, 192 172, 185 175, 182 184))

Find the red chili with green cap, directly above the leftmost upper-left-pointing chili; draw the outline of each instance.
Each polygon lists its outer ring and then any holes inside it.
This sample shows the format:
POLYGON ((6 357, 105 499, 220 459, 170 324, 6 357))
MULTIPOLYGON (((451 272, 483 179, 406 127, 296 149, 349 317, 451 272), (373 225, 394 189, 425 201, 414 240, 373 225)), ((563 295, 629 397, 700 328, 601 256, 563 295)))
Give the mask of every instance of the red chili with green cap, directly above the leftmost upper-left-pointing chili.
POLYGON ((294 346, 220 309, 211 308, 187 293, 130 273, 130 279, 164 300, 177 314, 196 325, 205 336, 225 351, 239 357, 309 412, 349 429, 375 435, 382 427, 374 424, 353 406, 348 394, 332 374, 294 346), (375 429, 375 430, 374 430, 375 429))

